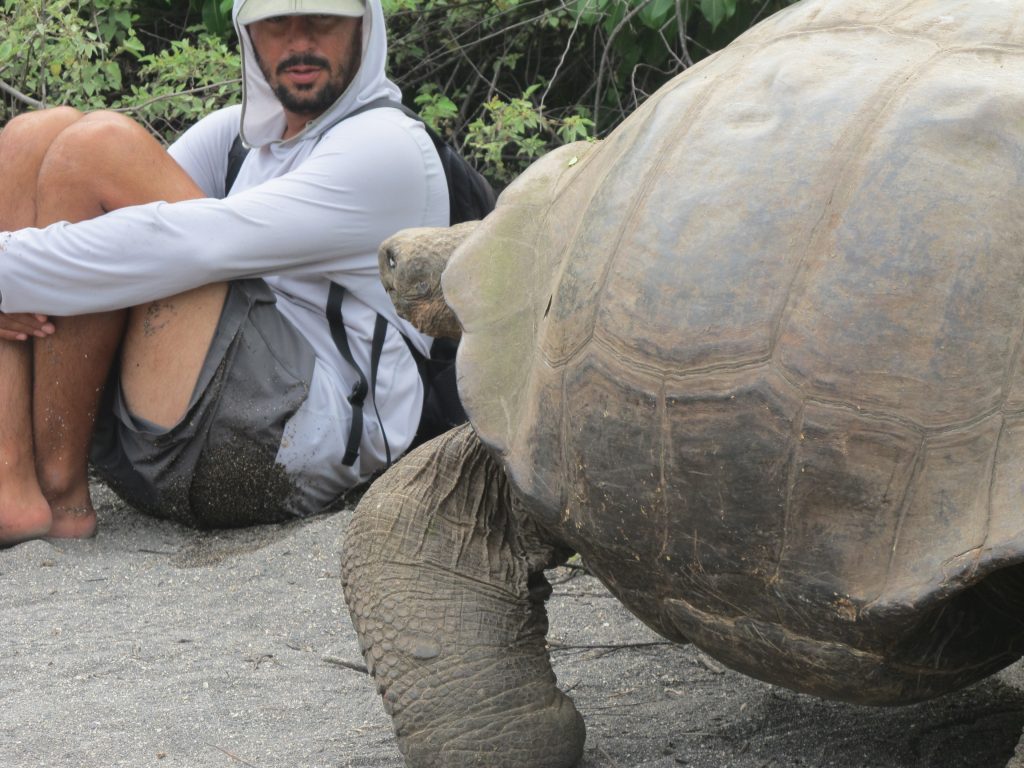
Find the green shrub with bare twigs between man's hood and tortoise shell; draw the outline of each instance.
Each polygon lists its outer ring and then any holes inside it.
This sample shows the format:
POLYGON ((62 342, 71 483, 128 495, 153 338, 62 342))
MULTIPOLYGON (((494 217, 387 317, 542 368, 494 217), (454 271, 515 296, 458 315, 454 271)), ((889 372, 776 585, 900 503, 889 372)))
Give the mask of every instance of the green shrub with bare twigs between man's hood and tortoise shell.
POLYGON ((793 0, 384 0, 392 75, 504 183, 793 0))

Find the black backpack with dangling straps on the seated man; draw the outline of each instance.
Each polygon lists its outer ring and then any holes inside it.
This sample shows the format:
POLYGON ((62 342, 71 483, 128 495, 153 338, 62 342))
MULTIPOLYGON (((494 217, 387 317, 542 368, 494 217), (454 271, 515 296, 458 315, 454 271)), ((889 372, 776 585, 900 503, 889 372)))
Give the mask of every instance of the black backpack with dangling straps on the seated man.
MULTIPOLYGON (((382 106, 391 106, 400 110, 414 120, 419 120, 420 116, 410 110, 404 104, 393 101, 389 98, 381 98, 376 101, 364 104, 359 109, 349 113, 346 118, 353 115, 375 110, 382 106)), ((437 135, 430 126, 424 123, 423 126, 430 140, 434 143, 437 156, 440 158, 441 167, 444 169, 444 177, 449 187, 449 211, 450 224, 459 224, 463 221, 473 221, 482 219, 495 208, 495 190, 487 180, 473 168, 466 159, 463 158, 450 143, 437 135)), ((242 143, 242 136, 236 136, 234 142, 227 154, 227 173, 224 175, 224 194, 226 195, 242 168, 242 162, 249 153, 248 147, 242 143)), ((345 333, 345 324, 342 318, 341 304, 345 297, 345 288, 337 283, 331 284, 328 294, 327 315, 328 325, 331 328, 331 336, 334 338, 335 346, 342 358, 356 372, 358 381, 352 388, 352 393, 348 396, 348 401, 352 406, 352 426, 348 433, 348 441, 345 445, 345 456, 342 464, 351 466, 358 456, 359 441, 362 435, 362 403, 367 394, 376 388, 377 366, 380 361, 381 351, 384 347, 384 337, 387 333, 387 321, 383 315, 377 315, 377 323, 374 327, 374 337, 370 347, 370 378, 355 365, 352 358, 351 349, 348 346, 348 336, 345 333)), ((420 372, 420 379, 423 381, 423 412, 420 416, 420 424, 416 430, 416 437, 410 449, 416 447, 421 442, 429 440, 431 437, 446 432, 452 427, 458 426, 466 421, 466 412, 462 408, 459 399, 459 391, 456 385, 456 350, 458 342, 452 339, 434 339, 430 348, 430 356, 424 356, 416 345, 402 334, 406 346, 416 360, 416 366, 420 372)), ((375 400, 376 408, 376 400, 375 400)), ((377 421, 380 423, 380 414, 377 414, 377 421)), ((381 433, 384 434, 383 425, 381 433)), ((384 435, 384 450, 387 463, 391 464, 391 447, 384 435)))

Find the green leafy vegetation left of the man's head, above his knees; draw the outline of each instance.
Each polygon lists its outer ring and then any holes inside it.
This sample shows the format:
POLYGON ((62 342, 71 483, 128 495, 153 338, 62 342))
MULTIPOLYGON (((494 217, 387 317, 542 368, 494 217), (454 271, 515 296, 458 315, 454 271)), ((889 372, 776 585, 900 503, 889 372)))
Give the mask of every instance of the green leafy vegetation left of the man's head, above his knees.
POLYGON ((0 0, 0 124, 27 109, 72 104, 128 113, 172 140, 241 96, 230 0, 217 0, 226 28, 205 8, 212 4, 0 0))

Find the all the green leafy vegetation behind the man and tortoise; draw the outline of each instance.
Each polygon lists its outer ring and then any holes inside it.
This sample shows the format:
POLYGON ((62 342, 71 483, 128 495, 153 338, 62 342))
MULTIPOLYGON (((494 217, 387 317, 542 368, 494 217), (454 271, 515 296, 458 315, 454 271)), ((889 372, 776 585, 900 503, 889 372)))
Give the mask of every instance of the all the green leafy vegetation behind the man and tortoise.
MULTIPOLYGON (((383 0, 391 76, 499 184, 606 134, 793 0, 383 0)), ((0 124, 68 103, 172 140, 238 101, 231 0, 0 0, 0 124)))

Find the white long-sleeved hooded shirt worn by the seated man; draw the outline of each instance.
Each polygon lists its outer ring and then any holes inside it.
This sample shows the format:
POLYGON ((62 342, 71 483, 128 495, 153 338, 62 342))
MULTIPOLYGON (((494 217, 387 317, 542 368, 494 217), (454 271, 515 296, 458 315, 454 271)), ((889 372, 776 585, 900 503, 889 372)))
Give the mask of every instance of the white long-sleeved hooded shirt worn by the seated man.
MULTIPOLYGON (((236 18, 245 2, 236 0, 236 18)), ((308 397, 286 425, 276 458, 303 490, 291 511, 310 514, 385 465, 385 435, 392 457, 415 436, 423 391, 398 332, 424 352, 429 339, 395 313, 380 282, 377 249, 398 229, 446 225, 447 185, 420 123, 387 108, 344 119, 381 97, 400 99, 385 75, 379 0, 367 0, 354 80, 324 115, 286 141, 280 138, 284 111, 256 63, 248 33, 238 32, 243 105, 204 118, 170 147, 208 197, 0 232, 0 311, 75 315, 134 306, 210 283, 264 278, 279 310, 316 354, 308 397), (227 153, 240 125, 252 150, 225 198, 227 153), (364 372, 370 370, 377 313, 389 322, 376 390, 365 406, 359 456, 351 467, 342 466, 341 457, 351 424, 346 397, 358 374, 331 337, 326 315, 331 282, 346 289, 345 328, 364 372)))

